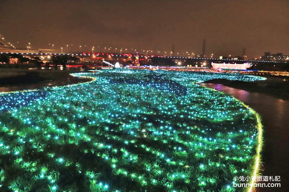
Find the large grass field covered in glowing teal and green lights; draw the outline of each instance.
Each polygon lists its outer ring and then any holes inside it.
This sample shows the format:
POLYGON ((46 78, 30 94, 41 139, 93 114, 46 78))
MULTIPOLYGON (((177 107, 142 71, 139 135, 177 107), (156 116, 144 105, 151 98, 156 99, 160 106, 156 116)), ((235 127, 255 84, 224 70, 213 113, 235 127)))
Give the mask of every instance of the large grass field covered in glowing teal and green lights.
POLYGON ((194 82, 261 77, 73 75, 94 80, 0 95, 1 191, 237 191, 234 176, 258 173, 259 117, 194 82))

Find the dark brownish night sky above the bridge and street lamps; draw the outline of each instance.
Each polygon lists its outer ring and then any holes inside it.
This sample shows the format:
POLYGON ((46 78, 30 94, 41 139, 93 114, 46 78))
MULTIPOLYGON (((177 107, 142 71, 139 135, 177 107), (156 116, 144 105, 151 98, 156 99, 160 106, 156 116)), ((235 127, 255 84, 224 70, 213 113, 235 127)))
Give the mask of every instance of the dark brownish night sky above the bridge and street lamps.
POLYGON ((206 39, 207 56, 238 56, 244 47, 248 58, 289 54, 289 1, 0 0, 0 35, 17 48, 169 54, 175 45, 182 55, 202 53, 206 39))

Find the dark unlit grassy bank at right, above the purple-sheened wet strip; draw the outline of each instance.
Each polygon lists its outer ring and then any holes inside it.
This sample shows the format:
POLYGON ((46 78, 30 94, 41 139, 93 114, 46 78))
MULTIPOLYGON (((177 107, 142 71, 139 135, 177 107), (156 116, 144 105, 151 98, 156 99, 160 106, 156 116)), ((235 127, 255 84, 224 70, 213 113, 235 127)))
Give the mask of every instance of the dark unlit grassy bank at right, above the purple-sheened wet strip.
POLYGON ((222 84, 227 87, 241 89, 249 92, 266 94, 276 98, 289 100, 289 78, 268 77, 264 81, 230 81, 227 79, 213 79, 204 83, 222 84))

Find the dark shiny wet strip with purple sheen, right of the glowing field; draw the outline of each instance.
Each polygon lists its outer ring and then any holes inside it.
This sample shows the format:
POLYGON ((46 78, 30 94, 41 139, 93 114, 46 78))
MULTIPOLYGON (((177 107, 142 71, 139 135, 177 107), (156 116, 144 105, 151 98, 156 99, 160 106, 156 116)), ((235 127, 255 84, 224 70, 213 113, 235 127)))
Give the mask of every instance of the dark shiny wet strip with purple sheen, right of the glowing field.
MULTIPOLYGON (((221 84, 201 83, 200 85, 225 92, 241 100, 257 111, 264 126, 264 146, 261 169, 263 176, 281 176, 281 187, 256 188, 263 191, 289 191, 289 101, 230 88, 221 84)), ((266 183, 266 182, 264 182, 266 183)), ((267 182, 268 183, 268 182, 267 182)))

